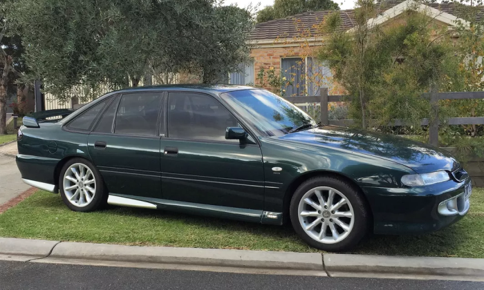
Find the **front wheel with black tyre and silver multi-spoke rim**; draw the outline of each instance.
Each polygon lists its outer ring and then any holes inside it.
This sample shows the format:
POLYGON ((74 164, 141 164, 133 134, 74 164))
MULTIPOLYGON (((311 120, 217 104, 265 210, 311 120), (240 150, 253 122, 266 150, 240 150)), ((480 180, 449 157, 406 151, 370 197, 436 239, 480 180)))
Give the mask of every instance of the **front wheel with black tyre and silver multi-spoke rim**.
POLYGON ((313 177, 303 182, 292 195, 289 214, 292 227, 304 242, 323 251, 352 249, 369 232, 371 220, 360 191, 353 184, 333 176, 313 177), (332 206, 328 204, 330 191, 332 206), (322 206, 319 206, 319 196, 322 206), (339 202, 342 205, 335 207, 339 202), (323 226, 325 231, 322 231, 323 226))

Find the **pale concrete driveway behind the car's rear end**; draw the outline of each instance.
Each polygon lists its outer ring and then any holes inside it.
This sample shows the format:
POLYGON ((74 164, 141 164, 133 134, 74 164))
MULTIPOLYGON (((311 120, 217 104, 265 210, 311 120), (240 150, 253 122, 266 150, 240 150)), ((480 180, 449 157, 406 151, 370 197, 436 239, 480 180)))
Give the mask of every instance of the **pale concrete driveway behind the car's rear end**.
POLYGON ((15 164, 15 155, 17 142, 0 146, 0 205, 30 189, 30 186, 21 180, 19 168, 15 164))

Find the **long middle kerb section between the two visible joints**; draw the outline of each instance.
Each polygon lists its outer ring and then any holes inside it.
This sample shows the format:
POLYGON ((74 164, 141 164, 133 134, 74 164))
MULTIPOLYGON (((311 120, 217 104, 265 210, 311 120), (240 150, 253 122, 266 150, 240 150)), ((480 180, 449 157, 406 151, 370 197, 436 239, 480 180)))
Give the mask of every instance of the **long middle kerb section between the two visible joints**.
POLYGON ((319 275, 324 275, 322 255, 318 253, 138 247, 62 242, 53 249, 48 258, 297 270, 315 272, 314 274, 319 272, 319 275))

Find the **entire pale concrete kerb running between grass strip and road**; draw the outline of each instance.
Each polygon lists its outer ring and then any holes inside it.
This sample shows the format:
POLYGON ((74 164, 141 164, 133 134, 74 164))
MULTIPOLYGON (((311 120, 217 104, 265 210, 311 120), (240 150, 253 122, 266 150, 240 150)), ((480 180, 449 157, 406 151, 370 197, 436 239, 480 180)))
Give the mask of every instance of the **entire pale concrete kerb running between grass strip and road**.
POLYGON ((0 260, 331 277, 484 281, 484 259, 139 247, 0 238, 0 260))

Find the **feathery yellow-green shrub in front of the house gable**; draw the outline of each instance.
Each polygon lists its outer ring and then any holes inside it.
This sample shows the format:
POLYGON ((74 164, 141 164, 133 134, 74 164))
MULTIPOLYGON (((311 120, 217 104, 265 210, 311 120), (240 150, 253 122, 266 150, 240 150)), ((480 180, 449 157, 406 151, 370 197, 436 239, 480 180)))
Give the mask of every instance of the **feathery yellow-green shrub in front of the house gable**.
POLYGON ((449 33, 412 6, 404 25, 372 26, 368 20, 378 15, 377 5, 357 1, 351 32, 340 29, 339 14, 326 17, 322 30, 328 41, 319 59, 347 90, 349 113, 360 126, 378 128, 392 119, 417 124, 432 115, 422 93, 438 91, 457 70, 449 33))

